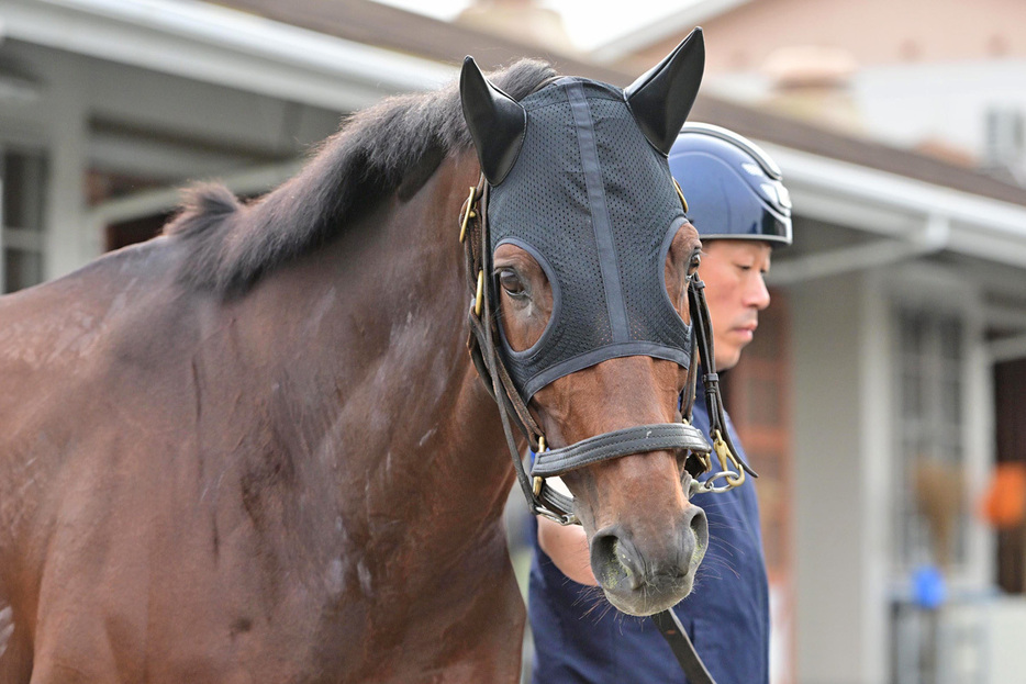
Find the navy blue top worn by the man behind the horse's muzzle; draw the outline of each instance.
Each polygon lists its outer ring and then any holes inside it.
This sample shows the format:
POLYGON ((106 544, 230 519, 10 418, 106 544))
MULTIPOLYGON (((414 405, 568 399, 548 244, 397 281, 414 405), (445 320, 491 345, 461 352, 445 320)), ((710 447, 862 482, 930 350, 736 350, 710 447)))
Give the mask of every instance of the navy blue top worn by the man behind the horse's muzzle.
MULTIPOLYGON (((707 436, 709 416, 699 385, 693 422, 707 436)), ((729 417, 727 427, 740 449, 729 417)), ((694 590, 673 609, 717 684, 768 684, 769 588, 752 480, 726 493, 700 494, 692 502, 709 518, 709 550, 694 590)), ((649 618, 624 615, 599 588, 564 575, 538 548, 537 523, 532 522, 531 528, 534 684, 687 682, 649 618)))

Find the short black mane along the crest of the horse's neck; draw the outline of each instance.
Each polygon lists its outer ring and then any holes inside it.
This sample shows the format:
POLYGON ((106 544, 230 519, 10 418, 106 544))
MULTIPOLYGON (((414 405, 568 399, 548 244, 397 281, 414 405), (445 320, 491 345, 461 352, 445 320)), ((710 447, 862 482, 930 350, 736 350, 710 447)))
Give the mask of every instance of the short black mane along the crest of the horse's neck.
MULTIPOLYGON (((525 59, 489 79, 520 100, 554 75, 525 59)), ((444 156, 471 146, 456 83, 388 98, 345 120, 299 175, 252 203, 221 184, 190 189, 164 232, 188 246, 187 282, 222 294, 244 291, 345 229, 368 203, 419 186, 444 156)))

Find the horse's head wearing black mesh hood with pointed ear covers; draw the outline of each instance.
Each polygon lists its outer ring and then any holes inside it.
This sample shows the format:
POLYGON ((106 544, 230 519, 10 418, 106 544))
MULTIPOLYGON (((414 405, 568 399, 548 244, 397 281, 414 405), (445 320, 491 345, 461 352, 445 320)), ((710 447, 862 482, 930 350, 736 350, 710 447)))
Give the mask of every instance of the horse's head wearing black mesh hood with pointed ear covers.
POLYGON ((500 405, 522 400, 560 448, 540 472, 573 494, 564 522, 581 523, 606 597, 634 615, 691 591, 709 539, 681 418, 701 243, 666 161, 703 67, 695 30, 625 90, 558 78, 514 101, 469 57, 460 79, 487 179, 484 327, 512 383, 500 405))

